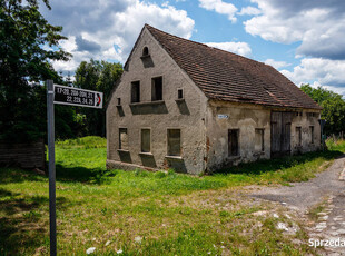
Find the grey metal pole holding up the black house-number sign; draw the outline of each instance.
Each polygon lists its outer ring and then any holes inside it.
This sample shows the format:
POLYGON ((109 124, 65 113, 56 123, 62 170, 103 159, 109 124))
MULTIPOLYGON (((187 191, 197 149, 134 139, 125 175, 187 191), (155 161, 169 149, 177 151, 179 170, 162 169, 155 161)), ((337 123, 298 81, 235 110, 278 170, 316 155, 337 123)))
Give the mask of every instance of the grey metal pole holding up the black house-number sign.
POLYGON ((55 125, 53 125, 53 82, 47 80, 48 112, 48 154, 49 154, 49 220, 50 256, 57 255, 57 215, 56 215, 56 163, 55 163, 55 125))

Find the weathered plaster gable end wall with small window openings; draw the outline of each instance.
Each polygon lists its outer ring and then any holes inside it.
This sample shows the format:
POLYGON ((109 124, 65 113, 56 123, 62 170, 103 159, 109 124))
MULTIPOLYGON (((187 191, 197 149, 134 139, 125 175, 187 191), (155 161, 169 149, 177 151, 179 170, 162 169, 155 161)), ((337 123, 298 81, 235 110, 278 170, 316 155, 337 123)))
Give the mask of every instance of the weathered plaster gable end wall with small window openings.
POLYGON ((144 29, 107 109, 109 168, 169 169, 199 174, 205 169, 205 112, 207 98, 168 53, 144 29), (144 47, 149 59, 142 59, 144 47), (145 67, 146 66, 146 67, 145 67), (151 102, 151 79, 162 77, 162 102, 151 102), (140 81, 140 104, 130 102, 132 81, 140 81), (185 101, 176 101, 177 90, 185 101), (117 98, 121 106, 117 106, 117 98), (145 104, 142 104, 145 102, 145 104), (128 130, 128 152, 119 150, 119 128, 128 130), (140 154, 140 130, 151 131, 151 155, 140 154), (181 130, 181 159, 167 158, 167 129, 181 130))

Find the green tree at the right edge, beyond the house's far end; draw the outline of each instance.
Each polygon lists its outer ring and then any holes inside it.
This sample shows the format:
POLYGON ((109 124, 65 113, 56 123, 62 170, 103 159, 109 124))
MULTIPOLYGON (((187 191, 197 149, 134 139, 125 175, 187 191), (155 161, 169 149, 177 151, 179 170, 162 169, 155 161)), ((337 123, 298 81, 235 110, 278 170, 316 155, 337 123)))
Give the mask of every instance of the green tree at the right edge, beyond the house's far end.
POLYGON ((322 118, 326 119, 325 134, 339 134, 345 130, 345 101, 341 95, 309 85, 303 85, 300 89, 323 108, 322 118))

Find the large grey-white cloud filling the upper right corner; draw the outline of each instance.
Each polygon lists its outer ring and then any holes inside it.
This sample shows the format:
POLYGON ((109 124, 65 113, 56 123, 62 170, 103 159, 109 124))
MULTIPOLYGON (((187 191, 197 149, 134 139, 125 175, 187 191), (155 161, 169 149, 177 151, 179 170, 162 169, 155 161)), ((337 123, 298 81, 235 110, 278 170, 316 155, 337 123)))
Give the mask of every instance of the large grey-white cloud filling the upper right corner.
POLYGON ((253 36, 274 42, 300 41, 297 55, 345 59, 345 1, 252 0, 262 14, 244 22, 253 36))

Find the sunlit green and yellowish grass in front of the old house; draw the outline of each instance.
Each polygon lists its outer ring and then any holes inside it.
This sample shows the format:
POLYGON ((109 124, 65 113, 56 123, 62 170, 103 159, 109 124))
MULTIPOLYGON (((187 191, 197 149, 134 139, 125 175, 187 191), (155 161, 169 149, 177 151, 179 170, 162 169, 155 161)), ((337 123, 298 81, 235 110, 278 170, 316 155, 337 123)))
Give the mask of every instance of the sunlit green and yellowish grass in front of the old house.
MULTIPOLYGON (((329 166, 344 145, 193 177, 172 170, 106 170, 105 140, 59 141, 58 254, 86 255, 90 247, 96 247, 92 255, 313 254, 303 224, 239 191, 246 185, 307 180, 329 166), (297 225, 297 232, 286 234, 277 223, 297 225)), ((47 177, 0 169, 0 255, 49 254, 48 201, 47 177)))

